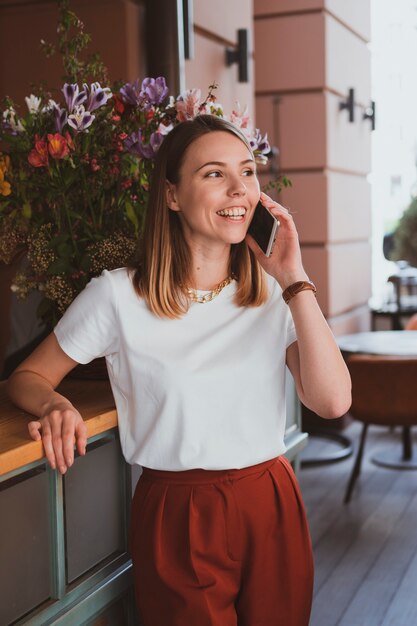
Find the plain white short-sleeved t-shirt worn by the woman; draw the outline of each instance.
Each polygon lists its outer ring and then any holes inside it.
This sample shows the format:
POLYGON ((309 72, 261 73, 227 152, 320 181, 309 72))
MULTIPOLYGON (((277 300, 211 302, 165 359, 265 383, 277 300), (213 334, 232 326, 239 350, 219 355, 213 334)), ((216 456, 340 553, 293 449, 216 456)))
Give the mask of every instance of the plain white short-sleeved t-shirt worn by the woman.
POLYGON ((105 356, 126 460, 160 470, 231 469, 285 452, 285 351, 296 340, 281 289, 233 303, 232 281, 180 319, 155 316, 126 268, 104 271, 55 328, 79 363, 105 356))

